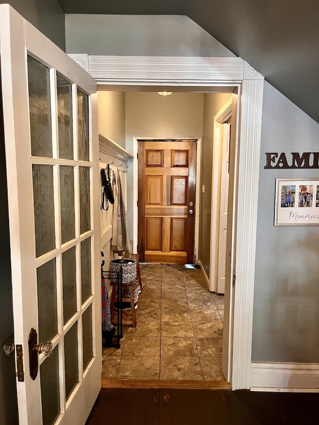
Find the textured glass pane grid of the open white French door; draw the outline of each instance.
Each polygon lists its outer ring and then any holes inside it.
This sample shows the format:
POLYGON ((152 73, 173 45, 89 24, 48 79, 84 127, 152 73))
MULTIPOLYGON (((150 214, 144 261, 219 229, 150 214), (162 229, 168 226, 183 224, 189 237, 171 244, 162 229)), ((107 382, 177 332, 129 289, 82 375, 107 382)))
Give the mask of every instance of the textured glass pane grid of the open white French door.
POLYGON ((53 425, 93 358, 90 96, 28 56, 42 420, 53 425), (77 119, 74 116, 77 114, 77 119))

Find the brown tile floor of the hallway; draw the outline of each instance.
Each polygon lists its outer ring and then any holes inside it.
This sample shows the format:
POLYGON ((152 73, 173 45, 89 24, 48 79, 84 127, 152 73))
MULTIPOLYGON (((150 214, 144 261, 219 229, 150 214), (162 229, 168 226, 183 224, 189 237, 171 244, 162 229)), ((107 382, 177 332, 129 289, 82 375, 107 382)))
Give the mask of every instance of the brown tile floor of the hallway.
POLYGON ((141 274, 138 326, 123 327, 120 349, 103 349, 102 380, 224 380, 224 297, 199 269, 141 264, 141 274))

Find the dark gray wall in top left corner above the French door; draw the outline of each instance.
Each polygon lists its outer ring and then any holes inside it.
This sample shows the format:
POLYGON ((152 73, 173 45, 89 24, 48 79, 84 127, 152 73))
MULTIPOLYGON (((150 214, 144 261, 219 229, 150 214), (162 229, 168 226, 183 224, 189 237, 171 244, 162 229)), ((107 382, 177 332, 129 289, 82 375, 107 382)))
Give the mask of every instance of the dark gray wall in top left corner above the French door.
POLYGON ((65 15, 57 0, 0 0, 0 3, 10 4, 65 51, 65 15))

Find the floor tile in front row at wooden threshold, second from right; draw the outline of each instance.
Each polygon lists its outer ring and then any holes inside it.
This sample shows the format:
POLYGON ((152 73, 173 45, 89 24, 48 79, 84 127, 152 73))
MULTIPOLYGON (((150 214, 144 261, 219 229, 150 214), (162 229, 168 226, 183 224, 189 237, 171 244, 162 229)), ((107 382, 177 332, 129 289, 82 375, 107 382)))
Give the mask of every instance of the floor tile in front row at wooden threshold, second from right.
POLYGON ((198 357, 161 357, 160 379, 202 381, 198 357))

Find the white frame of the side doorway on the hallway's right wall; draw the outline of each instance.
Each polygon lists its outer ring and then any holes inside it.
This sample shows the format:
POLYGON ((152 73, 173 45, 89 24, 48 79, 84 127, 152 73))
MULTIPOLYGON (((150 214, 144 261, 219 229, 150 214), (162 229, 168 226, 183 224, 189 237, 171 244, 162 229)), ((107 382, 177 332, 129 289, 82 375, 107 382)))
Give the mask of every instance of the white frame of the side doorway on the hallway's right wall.
POLYGON ((218 247, 219 247, 219 210, 220 210, 220 174, 221 174, 221 146, 223 140, 223 123, 228 120, 232 112, 232 97, 218 111, 214 117, 214 144, 213 144, 213 172, 211 183, 211 217, 210 217, 210 263, 209 283, 210 291, 217 292, 218 280, 218 247))

